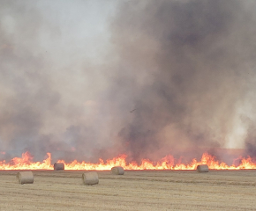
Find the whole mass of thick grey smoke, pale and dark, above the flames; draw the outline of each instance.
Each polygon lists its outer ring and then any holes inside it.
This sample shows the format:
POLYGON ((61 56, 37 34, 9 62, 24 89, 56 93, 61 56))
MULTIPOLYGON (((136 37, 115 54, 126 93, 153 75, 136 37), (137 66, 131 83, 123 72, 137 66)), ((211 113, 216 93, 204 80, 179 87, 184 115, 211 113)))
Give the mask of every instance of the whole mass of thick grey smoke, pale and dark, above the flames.
MULTIPOLYGON (((99 48, 83 33, 88 3, 56 1, 68 8, 58 25, 47 6, 1 1, 0 150, 138 161, 226 146, 239 108, 253 103, 256 3, 111 3, 99 48), (85 40, 107 54, 92 57, 85 40)), ((97 17, 106 3, 95 4, 97 17)))

